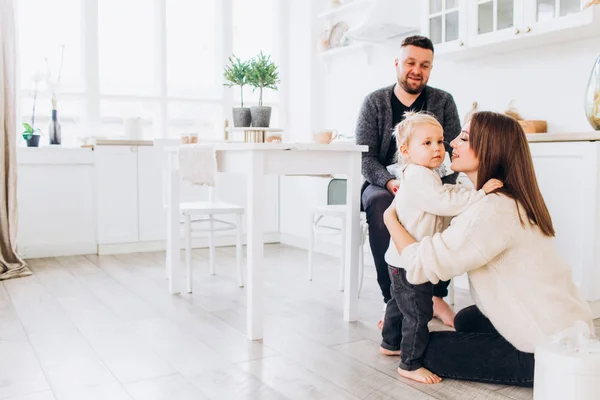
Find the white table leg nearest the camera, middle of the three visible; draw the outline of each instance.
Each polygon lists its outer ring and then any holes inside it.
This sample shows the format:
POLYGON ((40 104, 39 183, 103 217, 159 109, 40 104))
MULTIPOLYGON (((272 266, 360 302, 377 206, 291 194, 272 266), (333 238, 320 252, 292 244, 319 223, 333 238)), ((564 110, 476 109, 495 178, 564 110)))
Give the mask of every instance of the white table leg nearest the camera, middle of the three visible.
POLYGON ((246 279, 246 336, 250 340, 263 337, 263 265, 264 242, 262 207, 264 206, 264 155, 260 151, 248 153, 248 189, 246 232, 248 265, 246 279))

